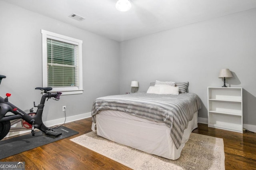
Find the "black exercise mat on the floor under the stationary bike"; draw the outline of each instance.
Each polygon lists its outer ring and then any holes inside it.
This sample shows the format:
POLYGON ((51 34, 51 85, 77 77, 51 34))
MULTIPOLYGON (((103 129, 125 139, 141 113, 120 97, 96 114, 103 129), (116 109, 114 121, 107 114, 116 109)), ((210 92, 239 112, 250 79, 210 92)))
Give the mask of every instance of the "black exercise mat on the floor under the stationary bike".
POLYGON ((54 130, 62 133, 62 135, 56 138, 55 136, 46 136, 42 131, 37 130, 35 136, 32 136, 32 134, 25 134, 23 136, 0 141, 0 159, 19 154, 21 152, 25 152, 27 150, 34 149, 79 133, 64 126, 60 126, 54 130))

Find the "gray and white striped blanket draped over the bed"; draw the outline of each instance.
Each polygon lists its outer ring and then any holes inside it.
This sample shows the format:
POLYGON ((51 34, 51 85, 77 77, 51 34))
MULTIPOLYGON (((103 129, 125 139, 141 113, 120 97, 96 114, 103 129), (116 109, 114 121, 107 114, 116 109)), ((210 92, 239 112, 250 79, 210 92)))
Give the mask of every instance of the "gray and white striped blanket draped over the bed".
POLYGON ((201 103, 198 95, 194 93, 112 95, 100 97, 94 101, 92 120, 96 123, 95 115, 99 111, 117 110, 151 121, 163 122, 170 127, 171 138, 178 149, 188 122, 199 109, 201 109, 201 103))

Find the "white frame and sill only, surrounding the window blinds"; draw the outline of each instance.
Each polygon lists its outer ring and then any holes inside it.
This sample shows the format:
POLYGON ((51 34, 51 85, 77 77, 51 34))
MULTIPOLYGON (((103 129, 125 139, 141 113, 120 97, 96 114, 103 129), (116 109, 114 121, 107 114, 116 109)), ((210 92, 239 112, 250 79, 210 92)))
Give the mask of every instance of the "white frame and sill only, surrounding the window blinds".
POLYGON ((83 76, 82 76, 82 40, 63 36, 46 30, 42 33, 42 81, 43 87, 48 87, 48 70, 47 70, 47 38, 60 42, 78 45, 78 86, 75 87, 52 87, 52 91, 60 91, 62 95, 82 94, 83 93, 83 76))

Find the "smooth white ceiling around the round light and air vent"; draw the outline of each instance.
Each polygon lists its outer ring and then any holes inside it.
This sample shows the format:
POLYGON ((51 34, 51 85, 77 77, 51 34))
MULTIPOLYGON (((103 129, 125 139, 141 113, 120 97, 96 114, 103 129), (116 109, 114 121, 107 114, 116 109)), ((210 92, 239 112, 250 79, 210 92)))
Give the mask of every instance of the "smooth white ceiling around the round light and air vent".
POLYGON ((130 0, 128 12, 116 10, 117 0, 2 1, 118 42, 256 8, 256 0, 130 0))

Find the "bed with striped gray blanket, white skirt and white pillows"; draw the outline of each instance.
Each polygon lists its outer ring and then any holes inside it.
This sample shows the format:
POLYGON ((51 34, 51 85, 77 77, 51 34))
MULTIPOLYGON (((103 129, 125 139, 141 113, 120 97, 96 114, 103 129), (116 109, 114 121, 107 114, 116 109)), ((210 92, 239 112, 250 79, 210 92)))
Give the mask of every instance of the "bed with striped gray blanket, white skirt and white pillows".
POLYGON ((100 97, 92 106, 92 130, 114 142, 176 160, 197 128, 201 108, 196 94, 180 90, 162 94, 159 87, 152 87, 147 93, 100 97))

